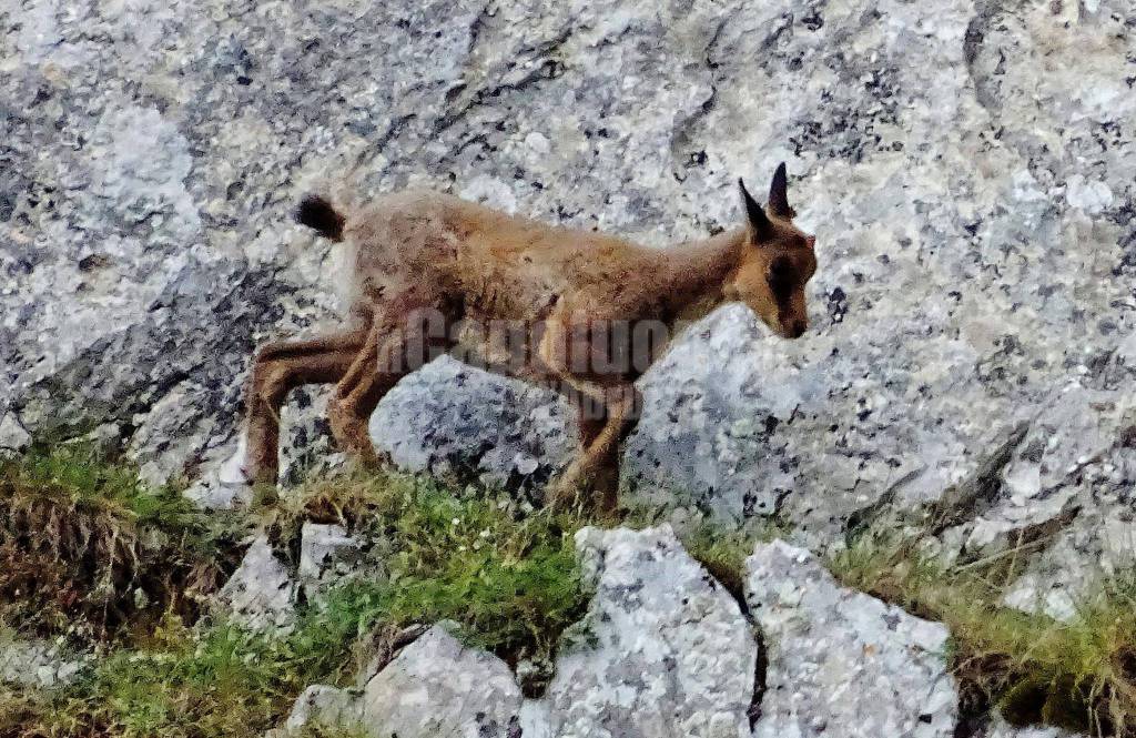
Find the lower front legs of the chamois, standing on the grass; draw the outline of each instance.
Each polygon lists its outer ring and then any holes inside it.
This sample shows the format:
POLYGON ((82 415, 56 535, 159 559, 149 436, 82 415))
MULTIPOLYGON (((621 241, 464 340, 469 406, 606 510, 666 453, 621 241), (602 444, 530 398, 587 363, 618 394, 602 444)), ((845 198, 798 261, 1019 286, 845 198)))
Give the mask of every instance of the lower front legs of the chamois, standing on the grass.
POLYGON ((630 383, 593 388, 591 383, 568 381, 580 390, 577 409, 582 451, 557 482, 550 499, 556 506, 571 505, 582 490, 591 487, 592 501, 599 509, 615 509, 619 443, 638 417, 638 390, 630 383))

